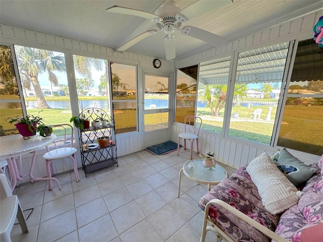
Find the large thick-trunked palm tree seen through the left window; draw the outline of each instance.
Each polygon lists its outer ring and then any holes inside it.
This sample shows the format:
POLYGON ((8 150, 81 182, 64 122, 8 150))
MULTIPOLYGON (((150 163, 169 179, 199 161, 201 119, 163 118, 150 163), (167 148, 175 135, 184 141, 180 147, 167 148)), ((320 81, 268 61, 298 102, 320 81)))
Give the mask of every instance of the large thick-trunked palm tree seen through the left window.
POLYGON ((58 78, 53 71, 66 72, 65 58, 44 49, 15 46, 15 50, 22 85, 26 89, 30 89, 30 83, 33 85, 38 108, 50 108, 41 91, 38 75, 46 72, 49 82, 57 86, 58 78))

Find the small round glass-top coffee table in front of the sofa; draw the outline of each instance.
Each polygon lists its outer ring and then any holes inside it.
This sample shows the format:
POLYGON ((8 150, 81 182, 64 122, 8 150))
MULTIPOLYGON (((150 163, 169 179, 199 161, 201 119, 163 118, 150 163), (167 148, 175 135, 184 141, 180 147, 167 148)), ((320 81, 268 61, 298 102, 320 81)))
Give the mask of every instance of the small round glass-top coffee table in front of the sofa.
POLYGON ((211 185, 217 185, 221 180, 228 177, 227 171, 218 163, 216 167, 205 167, 203 165, 203 160, 189 160, 180 170, 178 179, 178 198, 180 197, 181 191, 181 175, 182 171, 191 180, 194 180, 198 184, 207 185, 208 191, 211 189, 211 185), (193 164, 194 167, 192 167, 193 164))

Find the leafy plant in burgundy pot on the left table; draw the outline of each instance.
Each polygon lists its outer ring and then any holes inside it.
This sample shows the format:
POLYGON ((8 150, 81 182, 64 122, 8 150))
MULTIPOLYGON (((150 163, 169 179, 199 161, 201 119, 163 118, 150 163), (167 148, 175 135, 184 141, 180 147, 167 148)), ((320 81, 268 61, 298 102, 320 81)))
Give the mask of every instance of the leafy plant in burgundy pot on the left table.
MULTIPOLYGON (((40 110, 39 112, 41 112, 40 110)), ((9 123, 13 124, 16 123, 15 126, 17 127, 19 133, 25 138, 25 137, 32 137, 36 134, 37 131, 37 125, 42 124, 42 117, 38 115, 34 116, 32 114, 27 114, 24 116, 16 116, 16 117, 9 117, 7 119, 10 119, 9 123)))

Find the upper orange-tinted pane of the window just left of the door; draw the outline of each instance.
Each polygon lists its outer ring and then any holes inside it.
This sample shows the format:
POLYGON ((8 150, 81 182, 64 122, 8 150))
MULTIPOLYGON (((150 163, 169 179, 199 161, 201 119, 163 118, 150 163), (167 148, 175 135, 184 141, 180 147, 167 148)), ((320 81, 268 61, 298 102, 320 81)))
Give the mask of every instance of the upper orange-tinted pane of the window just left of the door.
POLYGON ((113 100, 136 99, 136 67, 111 63, 113 100))

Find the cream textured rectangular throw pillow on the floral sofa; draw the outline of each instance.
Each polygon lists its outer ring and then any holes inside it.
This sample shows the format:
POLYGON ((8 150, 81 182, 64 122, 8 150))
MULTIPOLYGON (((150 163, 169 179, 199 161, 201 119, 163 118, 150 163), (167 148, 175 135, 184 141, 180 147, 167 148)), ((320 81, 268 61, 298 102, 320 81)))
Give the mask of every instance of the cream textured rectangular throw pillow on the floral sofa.
POLYGON ((247 166, 258 189, 262 205, 272 214, 283 212, 298 203, 302 192, 278 169, 271 157, 262 153, 247 166))

